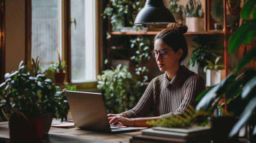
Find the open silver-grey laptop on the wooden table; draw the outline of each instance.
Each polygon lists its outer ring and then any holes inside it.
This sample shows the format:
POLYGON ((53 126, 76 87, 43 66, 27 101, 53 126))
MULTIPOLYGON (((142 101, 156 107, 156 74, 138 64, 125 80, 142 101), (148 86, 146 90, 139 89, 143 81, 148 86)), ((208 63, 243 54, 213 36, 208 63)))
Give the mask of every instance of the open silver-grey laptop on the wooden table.
POLYGON ((110 126, 101 93, 66 91, 75 127, 96 132, 128 132, 139 128, 110 126))

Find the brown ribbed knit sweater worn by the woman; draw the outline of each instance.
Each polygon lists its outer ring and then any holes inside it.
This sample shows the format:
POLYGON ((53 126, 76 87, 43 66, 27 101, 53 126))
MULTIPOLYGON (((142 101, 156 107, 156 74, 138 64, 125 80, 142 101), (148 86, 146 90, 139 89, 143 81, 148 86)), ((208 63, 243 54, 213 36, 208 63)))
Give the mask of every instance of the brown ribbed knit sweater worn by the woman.
POLYGON ((194 105, 194 99, 204 90, 202 76, 181 65, 171 81, 166 72, 150 81, 137 105, 123 113, 128 118, 147 117, 151 112, 155 117, 172 117, 194 105))

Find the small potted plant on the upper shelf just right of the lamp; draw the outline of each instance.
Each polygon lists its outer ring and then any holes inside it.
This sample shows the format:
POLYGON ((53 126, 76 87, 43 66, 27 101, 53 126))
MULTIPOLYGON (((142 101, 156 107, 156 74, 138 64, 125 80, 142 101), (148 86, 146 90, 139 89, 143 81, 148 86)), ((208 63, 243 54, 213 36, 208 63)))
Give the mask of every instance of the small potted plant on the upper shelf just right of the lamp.
POLYGON ((170 11, 173 14, 175 20, 181 19, 182 20, 182 6, 177 4, 180 0, 170 0, 170 11))

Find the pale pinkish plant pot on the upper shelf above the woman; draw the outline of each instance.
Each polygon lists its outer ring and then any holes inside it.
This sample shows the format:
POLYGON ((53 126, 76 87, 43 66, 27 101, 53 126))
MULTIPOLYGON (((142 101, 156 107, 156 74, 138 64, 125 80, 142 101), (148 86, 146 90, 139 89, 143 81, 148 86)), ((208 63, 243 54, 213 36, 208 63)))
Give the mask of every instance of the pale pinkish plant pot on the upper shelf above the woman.
POLYGON ((188 32, 204 31, 204 18, 186 18, 188 32))

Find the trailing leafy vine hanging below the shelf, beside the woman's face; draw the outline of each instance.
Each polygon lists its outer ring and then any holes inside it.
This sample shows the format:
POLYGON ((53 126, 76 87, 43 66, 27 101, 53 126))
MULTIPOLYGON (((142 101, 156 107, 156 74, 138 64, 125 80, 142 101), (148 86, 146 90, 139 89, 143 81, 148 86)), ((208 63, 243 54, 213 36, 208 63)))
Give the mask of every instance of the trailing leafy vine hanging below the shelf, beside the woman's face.
MULTIPOLYGON (((135 68, 135 74, 139 75, 139 79, 142 80, 142 76, 145 75, 146 72, 148 72, 148 69, 146 66, 142 65, 143 60, 150 59, 150 56, 148 55, 148 50, 150 49, 150 40, 146 39, 142 36, 137 36, 136 39, 130 40, 130 47, 131 48, 137 48, 136 49, 136 55, 130 57, 130 59, 134 62, 136 62, 136 68, 135 68)), ((147 81, 148 76, 143 76, 143 81, 147 81)))

